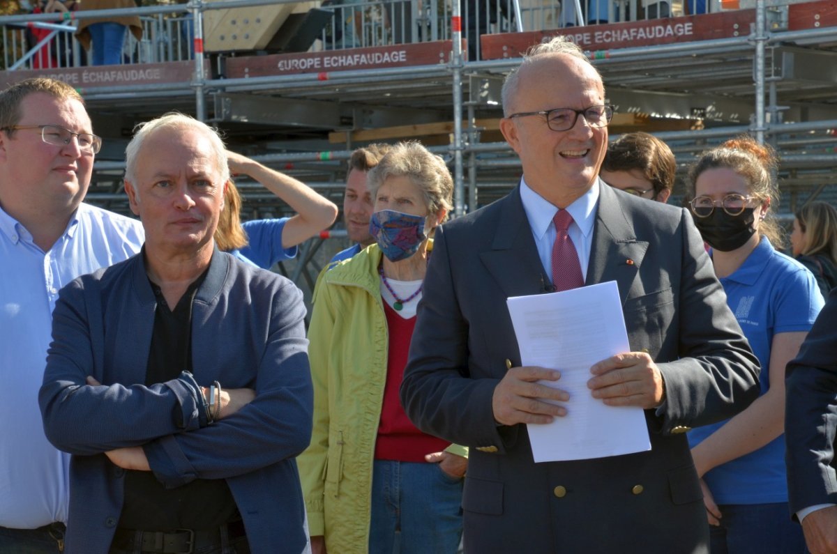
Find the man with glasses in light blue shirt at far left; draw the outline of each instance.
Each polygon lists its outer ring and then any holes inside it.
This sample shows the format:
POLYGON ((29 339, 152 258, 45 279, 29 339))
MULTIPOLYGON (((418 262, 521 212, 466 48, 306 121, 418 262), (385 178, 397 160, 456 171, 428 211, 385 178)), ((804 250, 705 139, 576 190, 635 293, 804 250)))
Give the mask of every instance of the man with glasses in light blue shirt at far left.
POLYGON ((101 139, 63 82, 0 93, 0 552, 59 552, 69 455, 47 442, 38 390, 59 289, 139 251, 140 223, 82 200, 101 139))

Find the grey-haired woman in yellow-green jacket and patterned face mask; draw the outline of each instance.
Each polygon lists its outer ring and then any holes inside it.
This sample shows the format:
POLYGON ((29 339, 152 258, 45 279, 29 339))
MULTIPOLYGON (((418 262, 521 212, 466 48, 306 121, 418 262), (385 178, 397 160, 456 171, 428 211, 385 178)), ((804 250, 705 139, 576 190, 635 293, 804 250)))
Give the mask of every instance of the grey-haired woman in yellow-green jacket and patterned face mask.
POLYGON ((453 554, 465 449, 421 433, 398 399, 427 234, 447 216, 453 181, 439 156, 407 142, 383 157, 367 185, 376 244, 321 274, 314 292, 314 434, 298 459, 311 546, 453 554))

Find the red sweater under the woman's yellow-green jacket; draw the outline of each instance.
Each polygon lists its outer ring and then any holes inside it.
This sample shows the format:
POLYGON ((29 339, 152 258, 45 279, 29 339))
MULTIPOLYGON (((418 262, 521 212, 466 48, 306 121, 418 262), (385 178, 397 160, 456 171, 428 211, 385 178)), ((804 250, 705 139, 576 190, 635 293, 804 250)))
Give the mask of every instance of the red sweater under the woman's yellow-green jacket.
POLYGON ((381 423, 377 428, 375 459, 424 462, 424 454, 440 452, 448 448, 450 443, 422 433, 404 413, 398 398, 398 389, 401 388, 404 368, 407 367, 407 354, 416 318, 413 316, 405 320, 386 302, 383 303, 383 310, 387 315, 389 349, 387 384, 383 389, 383 407, 381 423))

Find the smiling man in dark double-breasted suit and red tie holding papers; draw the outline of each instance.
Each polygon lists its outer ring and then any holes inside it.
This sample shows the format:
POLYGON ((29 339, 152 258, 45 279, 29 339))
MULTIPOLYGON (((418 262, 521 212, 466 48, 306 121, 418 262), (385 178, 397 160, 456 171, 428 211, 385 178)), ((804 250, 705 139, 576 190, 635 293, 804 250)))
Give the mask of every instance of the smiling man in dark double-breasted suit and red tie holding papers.
POLYGON ((531 51, 503 90, 520 187, 436 233, 401 397, 419 428, 473 447, 465 551, 707 551, 682 432, 757 397, 757 359, 691 216, 598 180, 612 114, 604 98, 574 44, 531 51), (563 212, 572 220, 557 233, 563 212), (569 237, 572 256, 552 255, 557 236, 561 249, 569 237), (609 406, 644 408, 651 450, 535 464, 523 424, 572 413, 573 398, 539 383, 560 386, 554 369, 517 367, 506 299, 610 280, 632 351, 595 364, 588 387, 609 406))

